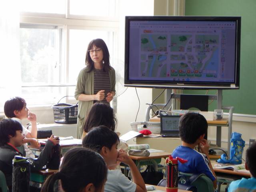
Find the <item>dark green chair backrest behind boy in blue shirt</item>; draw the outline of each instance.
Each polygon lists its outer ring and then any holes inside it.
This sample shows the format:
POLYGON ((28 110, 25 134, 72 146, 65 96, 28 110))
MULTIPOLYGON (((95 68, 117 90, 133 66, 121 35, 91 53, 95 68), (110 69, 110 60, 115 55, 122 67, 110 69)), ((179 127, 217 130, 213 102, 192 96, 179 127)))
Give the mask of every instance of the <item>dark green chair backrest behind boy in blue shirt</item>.
POLYGON ((212 180, 210 180, 210 178, 208 178, 205 174, 191 174, 180 172, 180 175, 184 176, 186 180, 190 183, 190 185, 196 186, 198 191, 215 191, 212 180))

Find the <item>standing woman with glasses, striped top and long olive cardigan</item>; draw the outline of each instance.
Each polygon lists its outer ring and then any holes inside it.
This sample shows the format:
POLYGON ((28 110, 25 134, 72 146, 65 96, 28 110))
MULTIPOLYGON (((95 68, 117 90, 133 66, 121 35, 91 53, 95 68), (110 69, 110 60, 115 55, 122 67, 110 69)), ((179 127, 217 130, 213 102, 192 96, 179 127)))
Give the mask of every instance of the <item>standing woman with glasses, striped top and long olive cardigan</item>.
POLYGON ((102 39, 88 44, 85 64, 77 79, 75 98, 78 100, 76 138, 83 134, 85 117, 95 102, 109 102, 115 95, 116 74, 110 66, 108 47, 102 39))

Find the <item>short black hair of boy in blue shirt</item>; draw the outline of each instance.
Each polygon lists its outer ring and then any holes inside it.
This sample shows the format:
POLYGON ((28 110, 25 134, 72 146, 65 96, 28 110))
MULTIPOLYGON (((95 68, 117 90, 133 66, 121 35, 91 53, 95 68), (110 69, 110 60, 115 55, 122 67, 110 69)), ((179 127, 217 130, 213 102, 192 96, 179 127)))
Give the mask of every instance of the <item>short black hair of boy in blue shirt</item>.
POLYGON ((207 133, 208 124, 199 113, 186 113, 180 118, 179 135, 182 141, 194 144, 203 134, 207 133))

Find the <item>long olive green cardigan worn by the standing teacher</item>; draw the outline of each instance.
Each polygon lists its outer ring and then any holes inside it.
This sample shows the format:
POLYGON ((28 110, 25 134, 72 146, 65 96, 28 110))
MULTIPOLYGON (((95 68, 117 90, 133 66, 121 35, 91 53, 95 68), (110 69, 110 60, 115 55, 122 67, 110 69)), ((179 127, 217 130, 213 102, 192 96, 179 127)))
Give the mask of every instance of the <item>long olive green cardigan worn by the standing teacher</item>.
MULTIPOLYGON (((75 98, 78 100, 80 94, 93 95, 94 94, 94 71, 89 71, 89 67, 83 68, 77 78, 75 98)), ((116 91, 116 74, 114 68, 111 67, 109 71, 110 76, 110 91, 116 91)), ((76 126, 76 138, 80 139, 83 134, 85 117, 88 115, 93 101, 78 101, 78 118, 76 126)))

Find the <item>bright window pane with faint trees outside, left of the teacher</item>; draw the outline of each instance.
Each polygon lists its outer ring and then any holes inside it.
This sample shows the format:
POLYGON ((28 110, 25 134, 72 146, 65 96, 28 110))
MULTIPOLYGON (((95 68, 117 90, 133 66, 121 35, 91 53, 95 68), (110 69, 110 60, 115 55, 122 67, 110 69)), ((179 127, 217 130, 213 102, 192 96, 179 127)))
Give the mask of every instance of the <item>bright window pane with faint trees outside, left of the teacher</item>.
POLYGON ((62 36, 60 26, 20 24, 22 97, 29 104, 55 103, 64 93, 64 88, 51 87, 64 79, 62 36))

